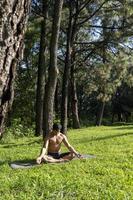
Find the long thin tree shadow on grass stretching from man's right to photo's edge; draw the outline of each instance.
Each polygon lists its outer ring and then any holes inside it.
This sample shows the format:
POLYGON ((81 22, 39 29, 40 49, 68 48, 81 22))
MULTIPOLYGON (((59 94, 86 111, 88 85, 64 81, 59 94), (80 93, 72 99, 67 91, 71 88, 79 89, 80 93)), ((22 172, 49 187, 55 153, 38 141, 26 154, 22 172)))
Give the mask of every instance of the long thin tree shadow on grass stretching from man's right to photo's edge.
POLYGON ((79 141, 79 143, 87 143, 87 142, 94 142, 94 141, 101 141, 101 140, 108 140, 108 139, 113 139, 113 138, 119 138, 123 136, 133 136, 133 133, 122 133, 122 134, 117 134, 117 135, 108 135, 108 136, 103 136, 103 137, 96 137, 96 138, 84 138, 79 141))

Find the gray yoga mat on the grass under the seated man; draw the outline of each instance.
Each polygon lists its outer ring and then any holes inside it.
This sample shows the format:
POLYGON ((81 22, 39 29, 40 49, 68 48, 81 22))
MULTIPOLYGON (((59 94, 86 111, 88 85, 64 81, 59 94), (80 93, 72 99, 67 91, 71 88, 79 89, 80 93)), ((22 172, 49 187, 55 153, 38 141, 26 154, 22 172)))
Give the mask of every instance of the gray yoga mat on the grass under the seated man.
MULTIPOLYGON (((95 155, 86 154, 86 155, 82 155, 81 159, 90 159, 90 158, 95 158, 95 157, 96 157, 95 155)), ((77 160, 77 159, 79 158, 75 157, 73 160, 77 160)), ((35 160, 29 160, 29 161, 14 161, 14 162, 9 163, 9 166, 12 169, 26 169, 26 168, 41 166, 42 164, 38 165, 35 160)), ((47 164, 59 164, 59 163, 47 163, 47 164)))

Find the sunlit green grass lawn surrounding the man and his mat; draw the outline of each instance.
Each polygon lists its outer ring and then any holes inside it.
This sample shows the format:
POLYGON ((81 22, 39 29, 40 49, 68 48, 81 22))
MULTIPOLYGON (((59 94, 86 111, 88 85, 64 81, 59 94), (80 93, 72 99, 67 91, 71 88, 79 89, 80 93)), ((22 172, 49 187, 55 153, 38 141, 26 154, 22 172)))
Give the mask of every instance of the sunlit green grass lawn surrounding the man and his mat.
POLYGON ((132 125, 70 130, 68 138, 79 152, 96 158, 13 170, 9 161, 36 158, 41 138, 1 143, 0 200, 133 199, 132 125))

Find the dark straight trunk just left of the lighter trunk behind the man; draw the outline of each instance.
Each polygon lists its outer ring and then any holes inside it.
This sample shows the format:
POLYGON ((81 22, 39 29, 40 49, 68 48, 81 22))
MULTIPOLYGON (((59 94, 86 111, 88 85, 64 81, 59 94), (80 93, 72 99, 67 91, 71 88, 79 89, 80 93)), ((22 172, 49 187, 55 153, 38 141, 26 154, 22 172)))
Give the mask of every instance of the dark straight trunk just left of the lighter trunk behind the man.
POLYGON ((42 0, 42 13, 44 19, 41 22, 40 50, 38 61, 38 80, 36 93, 36 136, 42 133, 43 121, 43 100, 44 100, 44 85, 46 75, 46 21, 48 15, 48 0, 42 0))

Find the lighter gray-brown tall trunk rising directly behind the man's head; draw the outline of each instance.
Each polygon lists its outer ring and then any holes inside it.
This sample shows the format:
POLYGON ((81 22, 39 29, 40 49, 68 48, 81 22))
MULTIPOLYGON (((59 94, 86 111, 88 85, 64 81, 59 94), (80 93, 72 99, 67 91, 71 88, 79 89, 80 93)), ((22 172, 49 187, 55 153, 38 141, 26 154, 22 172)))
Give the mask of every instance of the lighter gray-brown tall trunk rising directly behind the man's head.
POLYGON ((58 37, 60 30, 62 5, 63 5, 63 0, 58 0, 54 2, 54 16, 53 16, 52 35, 50 42, 50 63, 48 71, 48 82, 45 87, 45 97, 44 97, 44 113, 43 113, 44 137, 51 131, 53 125, 54 97, 55 97, 56 83, 58 77, 57 50, 58 50, 58 37))

